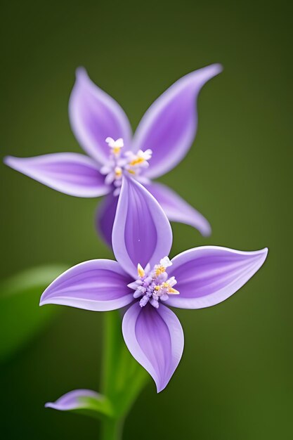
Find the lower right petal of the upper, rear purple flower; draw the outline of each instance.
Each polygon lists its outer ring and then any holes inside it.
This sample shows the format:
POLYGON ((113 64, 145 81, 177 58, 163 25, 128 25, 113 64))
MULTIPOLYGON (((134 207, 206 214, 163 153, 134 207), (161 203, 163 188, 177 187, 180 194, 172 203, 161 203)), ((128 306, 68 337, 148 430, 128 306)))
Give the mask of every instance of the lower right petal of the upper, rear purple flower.
POLYGON ((147 188, 159 202, 159 205, 164 209, 170 221, 178 221, 179 223, 193 226, 200 231, 204 237, 211 234, 211 226, 207 219, 185 202, 174 190, 157 182, 145 185, 145 188, 147 188))

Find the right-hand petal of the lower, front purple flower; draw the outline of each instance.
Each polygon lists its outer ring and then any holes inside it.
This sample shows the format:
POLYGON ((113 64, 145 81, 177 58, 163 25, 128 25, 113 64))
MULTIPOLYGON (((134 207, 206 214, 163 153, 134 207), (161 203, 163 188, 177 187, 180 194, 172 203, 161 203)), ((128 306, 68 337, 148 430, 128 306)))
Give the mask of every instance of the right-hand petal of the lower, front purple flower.
POLYGON ((180 295, 166 304, 180 309, 202 309, 224 301, 245 285, 266 260, 268 249, 244 252, 203 246, 178 254, 168 275, 177 280, 180 295))

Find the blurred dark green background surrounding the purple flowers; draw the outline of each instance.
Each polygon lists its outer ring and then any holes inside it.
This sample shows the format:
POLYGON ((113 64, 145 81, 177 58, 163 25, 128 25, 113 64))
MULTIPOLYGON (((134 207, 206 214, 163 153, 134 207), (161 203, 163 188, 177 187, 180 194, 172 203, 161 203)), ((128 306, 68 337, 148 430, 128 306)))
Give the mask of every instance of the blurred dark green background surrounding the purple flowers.
MULTIPOLYGON (((67 117, 79 65, 135 128, 176 79, 223 64, 200 94, 193 148, 162 178, 207 216, 213 233, 204 239, 173 224, 172 254, 196 245, 268 246, 268 261, 223 304, 178 311, 181 364, 162 394, 152 382, 145 388, 124 439, 292 439, 289 2, 4 1, 1 17, 2 156, 80 151, 67 117)), ((111 257, 93 228, 97 200, 0 168, 1 278, 111 257)), ((36 313, 37 302, 30 303, 36 313)), ((103 314, 62 309, 0 365, 3 439, 98 439, 98 422, 44 409, 71 389, 98 389, 103 314)))

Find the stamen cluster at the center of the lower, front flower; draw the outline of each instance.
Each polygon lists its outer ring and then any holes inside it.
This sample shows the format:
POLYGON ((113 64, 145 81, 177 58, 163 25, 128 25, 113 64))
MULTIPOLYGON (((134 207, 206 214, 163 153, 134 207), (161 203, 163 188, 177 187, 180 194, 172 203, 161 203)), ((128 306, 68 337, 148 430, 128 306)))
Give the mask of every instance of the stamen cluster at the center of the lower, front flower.
POLYGON ((159 301, 167 301, 169 295, 179 295, 178 290, 173 288, 177 283, 175 277, 168 278, 166 271, 171 264, 168 257, 162 258, 152 270, 150 270, 150 264, 144 269, 141 264, 138 264, 138 279, 130 283, 128 287, 135 291, 134 298, 140 298, 139 305, 141 307, 150 302, 157 309, 159 301))

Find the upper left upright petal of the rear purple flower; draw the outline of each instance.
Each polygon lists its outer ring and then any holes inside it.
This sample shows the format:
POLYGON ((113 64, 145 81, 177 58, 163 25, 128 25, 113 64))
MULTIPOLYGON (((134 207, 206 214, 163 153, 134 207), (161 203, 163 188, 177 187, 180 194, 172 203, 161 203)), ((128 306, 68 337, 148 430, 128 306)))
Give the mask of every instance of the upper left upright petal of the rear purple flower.
POLYGON ((77 141, 100 164, 107 162, 110 154, 106 138, 123 138, 124 145, 130 145, 131 127, 124 110, 115 99, 91 82, 83 67, 77 69, 69 116, 77 141))

